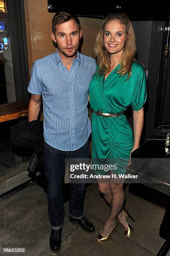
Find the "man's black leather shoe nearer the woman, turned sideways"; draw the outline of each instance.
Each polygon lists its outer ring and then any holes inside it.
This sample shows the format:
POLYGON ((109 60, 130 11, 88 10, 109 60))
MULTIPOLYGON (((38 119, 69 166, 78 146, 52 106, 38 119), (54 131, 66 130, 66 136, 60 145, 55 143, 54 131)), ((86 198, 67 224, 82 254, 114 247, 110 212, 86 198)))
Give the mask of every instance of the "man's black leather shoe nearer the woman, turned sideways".
POLYGON ((93 223, 87 220, 86 217, 83 217, 81 219, 74 219, 69 215, 69 221, 71 223, 77 223, 81 227, 81 229, 87 233, 94 233, 96 231, 93 223))

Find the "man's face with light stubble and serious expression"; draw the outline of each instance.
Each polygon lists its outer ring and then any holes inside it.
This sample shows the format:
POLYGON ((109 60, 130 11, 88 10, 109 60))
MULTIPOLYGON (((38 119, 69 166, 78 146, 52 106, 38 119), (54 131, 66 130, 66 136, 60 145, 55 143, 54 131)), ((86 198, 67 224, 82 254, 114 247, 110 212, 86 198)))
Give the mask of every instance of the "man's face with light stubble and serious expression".
POLYGON ((60 56, 74 57, 79 47, 82 32, 79 30, 75 20, 56 25, 55 34, 51 37, 56 42, 60 56))

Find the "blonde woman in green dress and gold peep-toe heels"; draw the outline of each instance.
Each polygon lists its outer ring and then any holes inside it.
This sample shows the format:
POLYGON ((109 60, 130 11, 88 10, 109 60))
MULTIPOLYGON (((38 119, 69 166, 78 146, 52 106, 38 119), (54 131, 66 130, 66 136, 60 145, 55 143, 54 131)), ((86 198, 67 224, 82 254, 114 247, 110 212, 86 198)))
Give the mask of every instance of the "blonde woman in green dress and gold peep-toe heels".
MULTIPOLYGON (((95 54, 99 68, 89 87, 92 157, 129 159, 131 152, 140 146, 147 92, 145 70, 134 59, 134 30, 126 14, 107 15, 96 40, 95 54), (123 115, 130 105, 133 109, 134 138, 123 115)), ((114 173, 126 172, 126 166, 114 173)), ((104 174, 101 171, 97 173, 104 174)), ((101 243, 110 238, 118 224, 117 220, 125 230, 125 238, 129 238, 133 228, 127 210, 122 209, 125 200, 123 183, 98 183, 98 186, 111 208, 97 241, 101 243)))

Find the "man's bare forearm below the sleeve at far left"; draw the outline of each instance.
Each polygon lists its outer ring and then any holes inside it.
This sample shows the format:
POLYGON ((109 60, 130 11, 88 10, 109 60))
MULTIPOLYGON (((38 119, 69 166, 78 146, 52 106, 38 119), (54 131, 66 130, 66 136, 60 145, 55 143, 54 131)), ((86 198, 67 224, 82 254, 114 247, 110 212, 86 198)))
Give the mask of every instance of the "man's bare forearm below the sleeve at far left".
POLYGON ((28 109, 28 119, 29 122, 38 119, 41 106, 41 95, 32 94, 28 109))

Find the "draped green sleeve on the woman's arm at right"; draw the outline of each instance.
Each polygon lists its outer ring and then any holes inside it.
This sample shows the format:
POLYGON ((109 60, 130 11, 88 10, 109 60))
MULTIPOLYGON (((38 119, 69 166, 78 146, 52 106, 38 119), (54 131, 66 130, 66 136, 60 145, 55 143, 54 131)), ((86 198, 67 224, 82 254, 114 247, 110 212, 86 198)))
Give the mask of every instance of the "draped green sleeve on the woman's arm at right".
POLYGON ((140 110, 145 104, 147 98, 147 79, 145 69, 140 66, 134 67, 133 72, 136 72, 134 93, 132 99, 132 109, 140 110))

